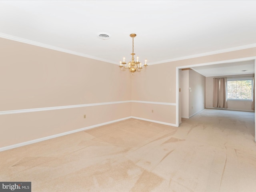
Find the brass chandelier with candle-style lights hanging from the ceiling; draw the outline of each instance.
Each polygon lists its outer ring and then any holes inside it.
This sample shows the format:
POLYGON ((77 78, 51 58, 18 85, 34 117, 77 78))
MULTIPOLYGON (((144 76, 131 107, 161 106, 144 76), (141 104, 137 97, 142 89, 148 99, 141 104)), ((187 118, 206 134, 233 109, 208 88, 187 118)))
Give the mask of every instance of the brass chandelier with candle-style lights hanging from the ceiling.
MULTIPOLYGON (((133 38, 136 37, 136 34, 132 33, 130 34, 130 37, 132 37, 132 61, 128 62, 128 64, 125 62, 125 58, 123 58, 123 62, 120 61, 120 70, 121 71, 125 71, 126 69, 129 69, 130 72, 132 72, 132 76, 133 76, 133 73, 138 71, 140 72, 141 70, 143 70, 143 67, 141 66, 141 62, 139 62, 139 56, 137 56, 137 61, 134 61, 134 50, 133 50, 133 38)), ((146 69, 147 67, 147 60, 145 59, 145 64, 144 64, 144 67, 146 69)))

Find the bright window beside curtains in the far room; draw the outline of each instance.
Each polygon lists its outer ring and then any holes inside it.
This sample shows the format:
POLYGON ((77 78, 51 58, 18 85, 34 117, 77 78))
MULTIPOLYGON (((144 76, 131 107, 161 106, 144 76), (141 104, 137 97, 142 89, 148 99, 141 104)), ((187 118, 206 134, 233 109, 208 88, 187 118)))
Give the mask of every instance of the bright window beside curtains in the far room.
POLYGON ((230 100, 252 100, 252 78, 228 78, 227 98, 230 100))

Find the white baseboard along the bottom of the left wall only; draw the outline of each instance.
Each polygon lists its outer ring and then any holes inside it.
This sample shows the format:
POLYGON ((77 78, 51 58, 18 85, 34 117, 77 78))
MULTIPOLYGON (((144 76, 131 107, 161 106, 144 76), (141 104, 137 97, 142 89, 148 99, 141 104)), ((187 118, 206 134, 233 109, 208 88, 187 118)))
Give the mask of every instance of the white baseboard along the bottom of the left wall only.
POLYGON ((51 136, 47 136, 47 137, 43 137, 43 138, 39 138, 39 139, 34 139, 34 140, 31 140, 31 141, 27 141, 27 142, 22 142, 22 143, 10 145, 10 146, 2 147, 2 148, 0 148, 0 152, 1 151, 5 151, 5 150, 9 150, 9 149, 13 149, 13 148, 17 148, 17 147, 21 147, 21 146, 25 146, 25 145, 29 145, 29 144, 33 144, 33 143, 37 143, 37 142, 41 142, 41 141, 45 141, 45 140, 49 140, 49 139, 52 139, 52 138, 61 137, 61 136, 64 136, 64 135, 68 135, 68 134, 72 134, 72 133, 76 133, 76 132, 92 129, 92 128, 95 128, 95 127, 99 127, 99 126, 115 123, 115 122, 118 122, 118 121, 130 119, 130 118, 131 117, 117 119, 117 120, 113 120, 113 121, 109 121, 109 122, 105 122, 105 123, 100 123, 100 124, 96 124, 96 125, 92 125, 92 126, 88 126, 88 127, 84 127, 84 128, 80 128, 80 129, 64 132, 64 133, 59 133, 59 134, 55 134, 55 135, 51 135, 51 136))

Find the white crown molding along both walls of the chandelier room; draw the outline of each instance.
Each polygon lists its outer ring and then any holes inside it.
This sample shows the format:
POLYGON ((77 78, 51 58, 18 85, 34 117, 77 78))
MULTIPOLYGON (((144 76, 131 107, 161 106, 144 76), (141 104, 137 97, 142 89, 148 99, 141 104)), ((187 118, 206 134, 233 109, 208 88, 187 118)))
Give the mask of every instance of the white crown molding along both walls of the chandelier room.
MULTIPOLYGON (((56 51, 60 51, 60 52, 64 52, 64 53, 69 53, 69 54, 73 54, 73 55, 78 55, 78 56, 82 56, 82 57, 86 57, 86 58, 91 58, 91 59, 95 59, 95 60, 99 60, 99 61, 119 65, 119 63, 117 63, 115 61, 110 61, 110 60, 106 60, 106 59, 103 59, 103 58, 98 58, 98 57, 95 57, 95 56, 91 56, 91 55, 83 54, 83 53, 80 53, 80 52, 75 52, 75 51, 59 48, 59 47, 56 47, 56 46, 51 46, 51 45, 48 45, 48 44, 44 44, 44 43, 40 43, 40 42, 36 42, 36 41, 24 39, 24 38, 20 38, 20 37, 17 37, 17 36, 12 36, 12 35, 8 35, 8 34, 0 33, 0 37, 5 38, 5 39, 18 41, 18 42, 22 42, 22 43, 26 43, 26 44, 39 46, 39 47, 44 47, 44 48, 48 48, 48 49, 52 49, 52 50, 56 50, 56 51)), ((162 64, 162 63, 167 63, 167 62, 191 59, 191 58, 214 55, 214 54, 220 54, 220 53, 237 51, 237 50, 254 48, 254 47, 256 47, 256 44, 249 44, 249 45, 238 46, 238 47, 233 47, 233 48, 228 48, 228 49, 222 49, 222 50, 217 50, 217 51, 212 51, 212 52, 206 52, 206 53, 200 53, 200 54, 195 54, 195 55, 190 55, 190 56, 184 56, 184 57, 178 57, 178 58, 173 58, 173 59, 168 59, 168 60, 162 60, 162 61, 158 61, 158 62, 152 62, 152 63, 150 63, 150 65, 162 64)))

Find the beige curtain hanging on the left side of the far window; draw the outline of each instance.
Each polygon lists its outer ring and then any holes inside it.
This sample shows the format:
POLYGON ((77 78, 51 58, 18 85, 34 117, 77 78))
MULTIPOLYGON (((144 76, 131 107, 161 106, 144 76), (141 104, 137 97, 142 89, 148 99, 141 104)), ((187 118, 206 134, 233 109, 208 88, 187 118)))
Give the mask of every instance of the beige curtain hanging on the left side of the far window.
POLYGON ((213 79, 213 107, 228 108, 226 87, 227 78, 213 79))

